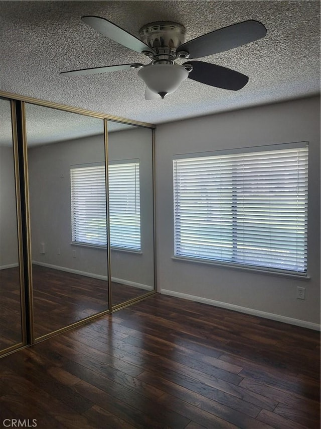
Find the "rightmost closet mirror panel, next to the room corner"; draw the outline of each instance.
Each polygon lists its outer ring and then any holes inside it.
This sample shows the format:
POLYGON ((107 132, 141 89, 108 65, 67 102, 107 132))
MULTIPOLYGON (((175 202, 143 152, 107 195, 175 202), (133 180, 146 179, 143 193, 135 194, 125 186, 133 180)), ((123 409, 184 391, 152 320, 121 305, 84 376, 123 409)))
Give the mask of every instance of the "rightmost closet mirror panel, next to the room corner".
POLYGON ((154 290, 151 129, 108 121, 108 187, 115 307, 154 290))

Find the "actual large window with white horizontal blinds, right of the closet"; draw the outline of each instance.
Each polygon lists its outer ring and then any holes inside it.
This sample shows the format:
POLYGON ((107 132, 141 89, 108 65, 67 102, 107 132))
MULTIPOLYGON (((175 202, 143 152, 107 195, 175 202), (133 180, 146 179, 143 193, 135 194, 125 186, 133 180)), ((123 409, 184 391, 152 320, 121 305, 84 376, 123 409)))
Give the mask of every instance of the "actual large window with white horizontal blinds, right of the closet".
POLYGON ((307 144, 242 152, 173 160, 175 255, 306 274, 307 144))

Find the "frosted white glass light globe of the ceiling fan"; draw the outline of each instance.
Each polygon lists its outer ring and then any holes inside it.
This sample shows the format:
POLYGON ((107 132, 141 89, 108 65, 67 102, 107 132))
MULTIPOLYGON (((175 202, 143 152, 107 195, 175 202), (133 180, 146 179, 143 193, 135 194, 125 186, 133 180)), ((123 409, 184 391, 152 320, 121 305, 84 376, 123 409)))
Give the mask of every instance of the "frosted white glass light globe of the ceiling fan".
POLYGON ((138 76, 156 94, 173 93, 188 75, 188 71, 177 64, 152 64, 138 71, 138 76))

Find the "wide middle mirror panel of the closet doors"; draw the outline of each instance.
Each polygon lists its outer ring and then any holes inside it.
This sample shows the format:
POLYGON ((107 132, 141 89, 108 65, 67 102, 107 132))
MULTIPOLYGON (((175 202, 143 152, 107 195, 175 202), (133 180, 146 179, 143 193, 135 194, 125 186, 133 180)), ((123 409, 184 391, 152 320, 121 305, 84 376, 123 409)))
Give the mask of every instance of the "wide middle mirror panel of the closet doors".
POLYGON ((26 127, 39 338, 109 309, 105 144, 90 116, 26 104, 26 127))

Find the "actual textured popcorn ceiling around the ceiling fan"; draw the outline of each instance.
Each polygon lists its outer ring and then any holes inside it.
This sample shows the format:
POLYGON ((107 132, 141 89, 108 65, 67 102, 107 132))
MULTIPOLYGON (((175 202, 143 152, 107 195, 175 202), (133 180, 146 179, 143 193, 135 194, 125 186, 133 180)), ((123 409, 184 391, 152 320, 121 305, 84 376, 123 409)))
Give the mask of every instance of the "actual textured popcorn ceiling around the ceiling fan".
POLYGON ((154 124, 315 95, 320 90, 318 1, 0 2, 0 89, 154 124), (175 21, 186 41, 254 19, 267 36, 203 58, 249 76, 240 91, 187 79, 164 100, 144 100, 136 70, 89 76, 59 72, 148 62, 80 18, 104 17, 134 36, 152 21, 175 21))

